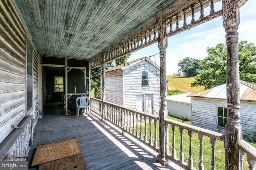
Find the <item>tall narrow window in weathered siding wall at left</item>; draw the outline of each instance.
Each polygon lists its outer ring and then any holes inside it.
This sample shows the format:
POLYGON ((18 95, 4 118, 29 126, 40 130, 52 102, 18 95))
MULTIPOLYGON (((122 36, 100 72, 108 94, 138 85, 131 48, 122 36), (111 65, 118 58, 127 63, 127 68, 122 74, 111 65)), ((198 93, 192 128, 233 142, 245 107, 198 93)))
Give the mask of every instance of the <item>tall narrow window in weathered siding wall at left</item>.
POLYGON ((27 113, 33 109, 33 46, 26 37, 26 61, 27 61, 27 113))

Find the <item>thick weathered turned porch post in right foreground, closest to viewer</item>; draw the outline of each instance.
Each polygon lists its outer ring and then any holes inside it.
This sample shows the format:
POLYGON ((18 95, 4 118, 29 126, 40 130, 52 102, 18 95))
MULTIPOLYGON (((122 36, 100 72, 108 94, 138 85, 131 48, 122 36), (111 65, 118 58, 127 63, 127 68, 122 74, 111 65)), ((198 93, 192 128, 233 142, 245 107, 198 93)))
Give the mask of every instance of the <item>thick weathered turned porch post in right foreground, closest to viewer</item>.
POLYGON ((223 26, 227 45, 227 124, 225 125, 225 166, 226 170, 240 170, 240 151, 238 142, 242 139, 240 125, 240 82, 238 63, 238 25, 239 8, 236 0, 223 0, 223 26))

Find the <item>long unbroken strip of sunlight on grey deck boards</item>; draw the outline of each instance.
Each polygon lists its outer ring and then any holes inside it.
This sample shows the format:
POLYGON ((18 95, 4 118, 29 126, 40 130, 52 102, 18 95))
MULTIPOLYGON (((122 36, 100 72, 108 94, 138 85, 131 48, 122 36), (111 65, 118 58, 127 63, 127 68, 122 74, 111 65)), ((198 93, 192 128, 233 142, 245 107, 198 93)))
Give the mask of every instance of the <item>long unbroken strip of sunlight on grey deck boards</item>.
POLYGON ((98 125, 96 122, 92 121, 92 124, 94 124, 108 139, 110 139, 117 147, 119 147, 127 156, 130 158, 138 158, 134 153, 132 153, 128 148, 126 148, 122 143, 120 143, 118 140, 116 140, 110 133, 105 131, 100 125, 98 125))

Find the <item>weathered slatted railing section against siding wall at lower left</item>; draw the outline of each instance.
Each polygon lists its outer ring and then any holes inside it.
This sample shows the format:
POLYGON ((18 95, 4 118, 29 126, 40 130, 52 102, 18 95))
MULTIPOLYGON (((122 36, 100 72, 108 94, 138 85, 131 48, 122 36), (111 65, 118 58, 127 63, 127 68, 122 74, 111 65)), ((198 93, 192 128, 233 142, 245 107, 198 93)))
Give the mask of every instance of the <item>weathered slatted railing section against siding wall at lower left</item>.
POLYGON ((0 160, 25 161, 32 145, 33 116, 25 117, 0 145, 0 160))

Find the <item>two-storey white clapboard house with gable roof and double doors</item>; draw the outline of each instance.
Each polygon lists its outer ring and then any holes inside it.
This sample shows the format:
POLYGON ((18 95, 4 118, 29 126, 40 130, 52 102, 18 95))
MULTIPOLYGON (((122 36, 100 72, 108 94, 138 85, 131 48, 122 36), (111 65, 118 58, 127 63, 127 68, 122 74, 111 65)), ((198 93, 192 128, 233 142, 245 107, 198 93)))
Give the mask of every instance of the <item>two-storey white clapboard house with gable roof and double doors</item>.
MULTIPOLYGON (((102 86, 102 74, 101 86, 102 86)), ((106 101, 146 113, 160 109, 160 68, 147 57, 106 70, 106 101)))

